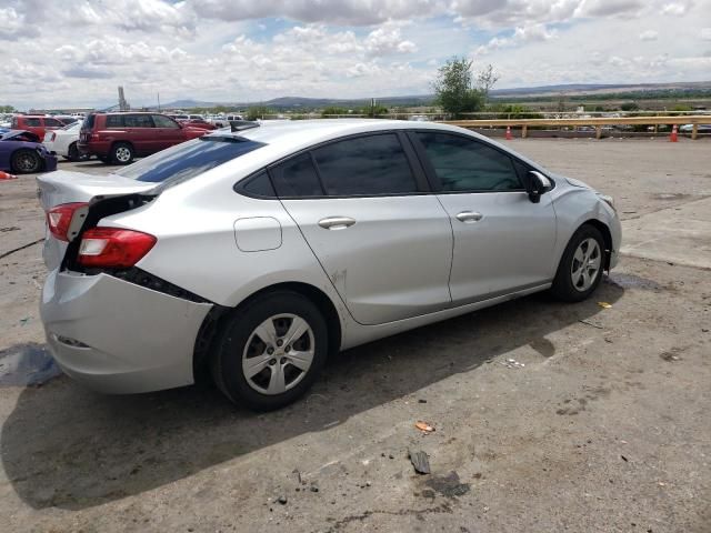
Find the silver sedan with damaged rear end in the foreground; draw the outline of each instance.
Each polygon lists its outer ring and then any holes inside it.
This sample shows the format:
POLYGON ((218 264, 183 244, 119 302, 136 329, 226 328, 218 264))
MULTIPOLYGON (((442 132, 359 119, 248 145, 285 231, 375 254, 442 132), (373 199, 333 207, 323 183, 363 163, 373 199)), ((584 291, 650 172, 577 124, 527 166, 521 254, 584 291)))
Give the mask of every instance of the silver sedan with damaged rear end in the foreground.
POLYGON ((613 268, 612 200, 477 133, 233 123, 97 177, 38 178, 57 363, 108 393, 193 383, 292 402, 329 353, 613 268))

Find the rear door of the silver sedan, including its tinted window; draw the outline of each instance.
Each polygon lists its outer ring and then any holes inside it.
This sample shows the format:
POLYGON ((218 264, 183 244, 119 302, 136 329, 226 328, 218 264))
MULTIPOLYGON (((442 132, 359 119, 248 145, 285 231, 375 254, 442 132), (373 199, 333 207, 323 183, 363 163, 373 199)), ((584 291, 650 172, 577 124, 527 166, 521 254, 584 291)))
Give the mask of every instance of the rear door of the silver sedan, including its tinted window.
POLYGON ((270 169, 282 203, 353 318, 381 324, 451 302, 452 231, 404 135, 314 148, 270 169))

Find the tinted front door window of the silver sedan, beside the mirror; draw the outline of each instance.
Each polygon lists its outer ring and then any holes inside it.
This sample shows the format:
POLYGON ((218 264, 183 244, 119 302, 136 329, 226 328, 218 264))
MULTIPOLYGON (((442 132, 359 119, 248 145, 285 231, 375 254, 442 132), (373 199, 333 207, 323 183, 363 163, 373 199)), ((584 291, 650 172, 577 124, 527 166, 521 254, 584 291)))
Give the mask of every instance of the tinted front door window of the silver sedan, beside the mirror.
POLYGON ((418 132, 442 191, 518 191, 523 189, 507 154, 465 137, 418 132))

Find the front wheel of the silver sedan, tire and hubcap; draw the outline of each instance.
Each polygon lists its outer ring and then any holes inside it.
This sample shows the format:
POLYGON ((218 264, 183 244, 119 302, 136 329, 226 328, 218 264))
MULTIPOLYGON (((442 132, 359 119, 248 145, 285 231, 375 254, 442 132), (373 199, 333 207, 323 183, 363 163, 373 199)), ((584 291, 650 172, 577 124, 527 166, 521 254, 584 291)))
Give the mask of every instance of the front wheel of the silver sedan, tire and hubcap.
POLYGON ((600 284, 604 264, 602 233, 592 225, 582 225, 565 247, 551 286, 552 294, 564 302, 585 300, 600 284))

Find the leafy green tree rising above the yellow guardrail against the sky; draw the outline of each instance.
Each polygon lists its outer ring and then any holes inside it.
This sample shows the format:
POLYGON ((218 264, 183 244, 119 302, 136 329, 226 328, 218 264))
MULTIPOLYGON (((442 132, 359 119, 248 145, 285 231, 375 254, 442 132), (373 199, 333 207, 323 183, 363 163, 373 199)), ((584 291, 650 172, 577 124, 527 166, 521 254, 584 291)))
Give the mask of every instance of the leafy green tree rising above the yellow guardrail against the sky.
POLYGON ((485 91, 493 84, 474 87, 472 63, 467 58, 450 59, 439 68, 437 79, 432 82, 437 103, 455 119, 462 113, 483 109, 485 91))

